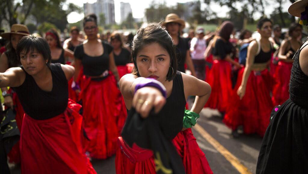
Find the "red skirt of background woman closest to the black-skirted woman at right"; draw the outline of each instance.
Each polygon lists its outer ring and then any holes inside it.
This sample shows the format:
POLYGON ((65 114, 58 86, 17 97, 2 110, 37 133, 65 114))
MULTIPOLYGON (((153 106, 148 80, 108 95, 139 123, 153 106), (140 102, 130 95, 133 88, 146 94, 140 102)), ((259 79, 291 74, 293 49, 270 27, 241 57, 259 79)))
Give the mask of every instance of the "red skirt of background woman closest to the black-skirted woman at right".
POLYGON ((273 87, 273 104, 281 105, 289 99, 289 83, 291 78, 291 68, 293 63, 278 62, 274 74, 275 85, 273 87))

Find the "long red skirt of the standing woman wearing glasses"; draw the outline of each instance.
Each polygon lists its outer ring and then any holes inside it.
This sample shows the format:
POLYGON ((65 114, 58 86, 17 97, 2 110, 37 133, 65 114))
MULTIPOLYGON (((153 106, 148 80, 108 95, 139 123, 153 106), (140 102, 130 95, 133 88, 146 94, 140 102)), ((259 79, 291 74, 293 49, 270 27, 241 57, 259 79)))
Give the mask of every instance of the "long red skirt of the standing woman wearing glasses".
POLYGON ((83 127, 87 138, 83 138, 84 151, 91 157, 106 159, 115 154, 119 130, 116 125, 116 100, 118 89, 112 75, 102 81, 93 81, 83 76, 83 127))

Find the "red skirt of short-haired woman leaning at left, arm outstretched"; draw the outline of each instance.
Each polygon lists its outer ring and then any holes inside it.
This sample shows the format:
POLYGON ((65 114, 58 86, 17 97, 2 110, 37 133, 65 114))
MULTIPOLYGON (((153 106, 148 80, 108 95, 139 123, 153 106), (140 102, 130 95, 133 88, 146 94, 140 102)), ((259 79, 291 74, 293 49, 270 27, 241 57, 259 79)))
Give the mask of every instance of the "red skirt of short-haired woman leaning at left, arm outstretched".
POLYGON ((20 137, 22 174, 95 174, 81 148, 81 108, 69 100, 67 109, 47 120, 24 117, 20 137))

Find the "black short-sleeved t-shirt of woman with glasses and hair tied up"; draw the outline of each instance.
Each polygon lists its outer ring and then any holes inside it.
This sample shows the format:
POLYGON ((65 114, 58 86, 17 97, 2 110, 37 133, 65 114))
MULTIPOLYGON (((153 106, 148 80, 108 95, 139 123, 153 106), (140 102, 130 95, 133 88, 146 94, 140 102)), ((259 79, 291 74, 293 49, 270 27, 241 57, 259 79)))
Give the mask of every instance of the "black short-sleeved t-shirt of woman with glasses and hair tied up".
POLYGON ((74 56, 80 59, 83 65, 83 74, 88 76, 99 76, 105 70, 109 70, 109 54, 113 48, 111 45, 102 42, 104 52, 100 56, 88 56, 83 51, 83 44, 78 45, 75 49, 74 56))

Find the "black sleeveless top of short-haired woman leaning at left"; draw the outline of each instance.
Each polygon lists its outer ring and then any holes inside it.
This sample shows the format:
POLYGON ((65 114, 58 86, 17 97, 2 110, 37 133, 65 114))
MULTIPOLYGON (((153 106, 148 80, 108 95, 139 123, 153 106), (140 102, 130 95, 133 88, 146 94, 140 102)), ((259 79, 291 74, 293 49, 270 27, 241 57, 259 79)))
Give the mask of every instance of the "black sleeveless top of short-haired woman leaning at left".
MULTIPOLYGON (((23 69, 22 66, 20 66, 23 69)), ((59 63, 50 65, 52 90, 43 91, 31 75, 19 87, 14 87, 27 115, 36 120, 45 120, 63 113, 67 108, 68 84, 59 63)))

